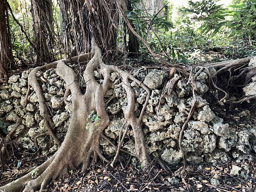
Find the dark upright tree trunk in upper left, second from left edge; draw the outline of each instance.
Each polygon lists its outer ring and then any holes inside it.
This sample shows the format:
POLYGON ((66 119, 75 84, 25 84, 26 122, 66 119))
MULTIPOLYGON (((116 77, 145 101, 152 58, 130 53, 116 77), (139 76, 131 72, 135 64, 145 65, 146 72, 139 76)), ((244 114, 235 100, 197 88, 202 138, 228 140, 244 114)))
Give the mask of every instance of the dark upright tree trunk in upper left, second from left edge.
POLYGON ((31 12, 33 17, 34 44, 37 49, 36 62, 50 62, 53 59, 51 53, 54 49, 54 38, 51 32, 53 23, 52 1, 31 0, 31 12))

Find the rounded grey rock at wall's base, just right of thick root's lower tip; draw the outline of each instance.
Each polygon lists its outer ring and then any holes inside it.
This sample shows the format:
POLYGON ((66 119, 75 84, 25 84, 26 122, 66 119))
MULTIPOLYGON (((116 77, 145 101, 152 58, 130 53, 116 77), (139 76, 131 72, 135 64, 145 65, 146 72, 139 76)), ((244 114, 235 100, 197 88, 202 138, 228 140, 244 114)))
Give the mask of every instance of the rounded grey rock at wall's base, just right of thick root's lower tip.
POLYGON ((173 148, 169 148, 169 149, 166 148, 163 151, 163 154, 161 154, 161 157, 167 163, 171 165, 177 165, 182 158, 182 154, 180 151, 176 151, 173 148))

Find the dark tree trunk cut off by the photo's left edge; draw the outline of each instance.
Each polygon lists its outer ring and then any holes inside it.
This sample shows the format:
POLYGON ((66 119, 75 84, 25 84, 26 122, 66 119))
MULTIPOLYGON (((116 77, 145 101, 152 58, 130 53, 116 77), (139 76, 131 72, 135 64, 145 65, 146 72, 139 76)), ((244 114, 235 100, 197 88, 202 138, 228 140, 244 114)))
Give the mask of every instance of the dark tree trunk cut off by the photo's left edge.
POLYGON ((15 66, 12 56, 11 34, 8 26, 7 1, 0 0, 0 83, 7 81, 7 68, 15 66))

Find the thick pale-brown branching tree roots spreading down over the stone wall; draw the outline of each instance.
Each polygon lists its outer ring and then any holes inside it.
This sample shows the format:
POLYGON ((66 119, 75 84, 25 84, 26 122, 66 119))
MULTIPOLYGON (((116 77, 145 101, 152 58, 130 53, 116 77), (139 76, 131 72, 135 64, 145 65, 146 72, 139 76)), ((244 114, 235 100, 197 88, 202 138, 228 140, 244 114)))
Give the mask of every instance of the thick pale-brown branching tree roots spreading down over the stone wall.
MULTIPOLYGON (((91 54, 82 55, 82 57, 84 57, 82 61, 88 61, 90 55, 91 54)), ((77 61, 77 59, 78 58, 73 58, 75 61, 77 61)), ((150 90, 131 74, 126 73, 115 66, 103 64, 101 52, 98 47, 94 48, 93 58, 88 62, 86 69, 84 70, 83 76, 86 82, 86 91, 84 94, 82 94, 80 90, 79 81, 76 79, 75 72, 68 67, 64 61, 57 61, 42 67, 36 67, 29 74, 29 90, 26 94, 26 99, 29 96, 30 87, 32 87, 38 96, 39 110, 41 116, 44 117, 44 126, 47 128, 49 135, 54 139, 56 144, 58 144, 58 139, 52 131, 54 124, 50 118, 47 105, 44 102, 44 95, 41 91, 38 80, 36 79, 36 73, 38 70, 43 71, 50 68, 56 68, 58 76, 64 79, 67 84, 67 90, 64 96, 65 100, 68 93, 71 92, 72 94, 71 106, 73 108, 73 113, 66 137, 58 151, 44 164, 36 168, 38 177, 32 179, 32 172, 30 172, 20 179, 2 186, 0 189, 4 192, 16 192, 20 190, 23 190, 24 192, 34 192, 37 189, 46 189, 47 184, 51 180, 66 174, 68 169, 74 169, 82 164, 82 171, 86 171, 90 162, 91 154, 94 154, 94 157, 100 157, 105 162, 109 162, 102 155, 102 152, 99 149, 99 139, 102 137, 102 131, 108 127, 110 123, 108 113, 105 110, 106 104, 104 97, 111 86, 110 74, 113 72, 117 72, 122 76, 122 83, 119 85, 125 89, 128 96, 128 105, 123 107, 125 119, 127 121, 127 126, 131 126, 134 131, 136 156, 140 160, 140 164, 143 169, 147 169, 151 160, 145 148, 141 121, 150 97, 150 90), (102 84, 99 84, 94 79, 94 70, 98 70, 103 76, 104 80, 102 84), (139 117, 136 117, 134 114, 135 94, 129 81, 135 81, 148 93, 146 102, 143 105, 139 117), (100 116, 101 119, 97 123, 89 122, 89 127, 86 129, 85 127, 87 125, 88 116, 92 111, 96 111, 96 114, 100 116)), ((35 140, 36 139, 37 137, 35 140)), ((122 145, 122 140, 119 145, 122 145)), ((119 149, 117 149, 117 151, 118 150, 119 149)))

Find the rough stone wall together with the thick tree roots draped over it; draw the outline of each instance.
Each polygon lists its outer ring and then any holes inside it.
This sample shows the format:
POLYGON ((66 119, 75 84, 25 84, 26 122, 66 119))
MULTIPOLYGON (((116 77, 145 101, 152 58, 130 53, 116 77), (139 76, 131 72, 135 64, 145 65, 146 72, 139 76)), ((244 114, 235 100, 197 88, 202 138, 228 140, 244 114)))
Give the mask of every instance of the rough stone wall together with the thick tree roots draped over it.
POLYGON ((187 73, 180 74, 175 67, 153 69, 149 73, 142 67, 128 73, 104 64, 98 47, 93 54, 72 60, 76 63, 74 66, 79 66, 77 73, 69 61, 56 61, 36 67, 30 73, 23 72, 24 78, 12 76, 9 79, 12 85, 6 85, 0 92, 5 100, 0 104, 4 107, 0 112, 6 115, 6 120, 16 121, 23 117, 22 124, 15 126, 14 137, 26 134, 33 141, 23 137, 19 141, 21 145, 27 148, 33 145, 36 151, 44 154, 58 148, 36 168, 37 177, 32 178, 30 172, 1 186, 1 190, 33 192, 45 189, 49 182, 69 169, 82 165, 82 170, 86 171, 91 159, 99 158, 113 166, 120 151, 137 157, 144 170, 153 159, 164 168, 166 163, 175 165, 182 158, 189 163, 203 160, 216 163, 228 161, 228 151, 240 159, 251 158, 251 153, 255 153, 255 126, 246 125, 238 131, 209 107, 210 100, 223 108, 231 103, 248 102, 248 99, 253 101, 256 95, 254 59, 194 67, 190 77, 187 73), (249 66, 240 73, 234 72, 249 61, 249 66), (79 72, 83 68, 84 72, 79 72), (24 88, 26 76, 27 90, 24 88), (224 76, 221 83, 220 76, 224 76), (238 81, 243 85, 240 89, 244 94, 239 88, 237 93, 230 90, 230 84, 238 81), (196 89, 192 89, 191 82, 196 84, 196 89), (26 96, 22 95, 24 93, 26 96), (12 110, 10 100, 17 103, 19 98, 22 106, 15 105, 12 110), (65 111, 61 111, 63 105, 65 111), (35 112, 35 108, 39 108, 39 112, 35 112), (36 121, 39 127, 35 126, 36 121), (24 127, 30 129, 25 131, 24 127), (65 131, 58 130, 63 128, 67 128, 66 135, 65 131), (106 158, 116 151, 114 160, 106 158))

